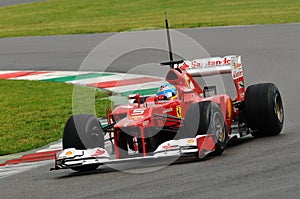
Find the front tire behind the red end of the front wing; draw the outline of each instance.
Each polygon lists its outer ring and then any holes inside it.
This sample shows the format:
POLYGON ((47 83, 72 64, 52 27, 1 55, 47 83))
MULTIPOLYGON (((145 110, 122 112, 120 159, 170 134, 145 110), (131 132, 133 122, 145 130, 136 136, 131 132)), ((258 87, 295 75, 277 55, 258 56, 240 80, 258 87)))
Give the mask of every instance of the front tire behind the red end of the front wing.
POLYGON ((221 155, 226 147, 226 125, 220 107, 211 101, 190 105, 183 122, 185 137, 213 134, 216 150, 221 155))

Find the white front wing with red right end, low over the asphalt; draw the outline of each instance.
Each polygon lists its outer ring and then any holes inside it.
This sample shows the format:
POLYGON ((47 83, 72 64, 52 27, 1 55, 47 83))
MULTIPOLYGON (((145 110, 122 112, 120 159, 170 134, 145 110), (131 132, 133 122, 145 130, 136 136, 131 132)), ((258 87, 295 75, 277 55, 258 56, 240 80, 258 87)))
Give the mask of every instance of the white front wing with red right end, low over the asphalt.
MULTIPOLYGON (((151 155, 132 156, 124 159, 116 159, 109 155, 103 148, 77 150, 75 148, 65 149, 55 156, 55 166, 51 170, 72 169, 86 165, 112 165, 124 162, 152 162, 162 163, 163 159, 179 159, 181 157, 196 156, 205 158, 215 151, 213 135, 198 135, 195 138, 184 138, 169 140, 161 145, 151 155)), ((147 164, 148 165, 148 164, 147 164)))

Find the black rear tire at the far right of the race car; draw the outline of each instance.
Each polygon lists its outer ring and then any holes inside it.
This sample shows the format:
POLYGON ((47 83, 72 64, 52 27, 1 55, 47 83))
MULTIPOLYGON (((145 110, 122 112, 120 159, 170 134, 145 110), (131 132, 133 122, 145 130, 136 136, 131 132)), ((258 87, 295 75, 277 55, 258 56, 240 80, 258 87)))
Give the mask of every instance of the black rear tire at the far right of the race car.
POLYGON ((251 85, 245 94, 245 120, 254 137, 280 134, 284 109, 280 92, 272 83, 251 85))

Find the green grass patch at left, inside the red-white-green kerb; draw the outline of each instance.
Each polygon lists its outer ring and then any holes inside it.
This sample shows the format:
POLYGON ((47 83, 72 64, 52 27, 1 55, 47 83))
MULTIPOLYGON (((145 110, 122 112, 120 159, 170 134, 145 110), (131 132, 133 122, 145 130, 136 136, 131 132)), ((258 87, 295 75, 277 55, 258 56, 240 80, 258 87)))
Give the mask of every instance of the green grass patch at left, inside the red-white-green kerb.
MULTIPOLYGON (((39 81, 0 80, 0 155, 27 151, 57 141, 67 119, 72 115, 73 85, 39 81)), ((78 87, 95 103, 86 104, 80 113, 105 115, 110 101, 107 93, 78 87), (90 96, 90 95, 89 95, 90 96), (94 107, 95 105, 95 107, 94 107)))

